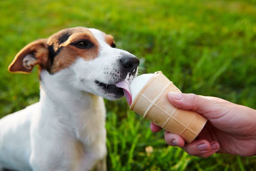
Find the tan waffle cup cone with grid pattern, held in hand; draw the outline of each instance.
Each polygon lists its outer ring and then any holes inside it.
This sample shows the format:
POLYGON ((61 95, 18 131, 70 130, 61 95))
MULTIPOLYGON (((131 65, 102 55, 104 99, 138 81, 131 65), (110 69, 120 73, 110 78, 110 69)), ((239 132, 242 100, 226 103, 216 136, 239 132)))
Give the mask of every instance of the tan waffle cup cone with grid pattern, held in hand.
POLYGON ((168 100, 170 91, 181 92, 161 71, 155 72, 133 98, 130 110, 165 130, 180 135, 186 143, 191 143, 201 132, 207 119, 195 111, 172 105, 168 100))

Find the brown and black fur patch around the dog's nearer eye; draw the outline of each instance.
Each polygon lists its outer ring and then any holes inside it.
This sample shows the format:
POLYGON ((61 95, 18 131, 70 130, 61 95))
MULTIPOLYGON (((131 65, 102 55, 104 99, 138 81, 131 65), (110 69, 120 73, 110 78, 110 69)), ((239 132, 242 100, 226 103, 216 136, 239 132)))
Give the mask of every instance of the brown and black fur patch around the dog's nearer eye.
POLYGON ((48 40, 50 59, 52 59, 51 73, 68 68, 77 57, 86 61, 98 56, 99 43, 87 28, 71 28, 52 35, 48 40))

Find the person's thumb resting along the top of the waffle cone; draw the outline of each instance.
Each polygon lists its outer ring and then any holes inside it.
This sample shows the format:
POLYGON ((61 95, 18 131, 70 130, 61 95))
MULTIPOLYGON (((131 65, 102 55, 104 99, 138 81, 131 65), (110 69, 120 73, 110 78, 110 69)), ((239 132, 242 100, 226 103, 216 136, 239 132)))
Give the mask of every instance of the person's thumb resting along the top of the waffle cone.
POLYGON ((222 109, 222 104, 218 102, 219 100, 216 100, 219 98, 214 97, 200 96, 192 93, 169 92, 168 99, 171 104, 180 109, 194 110, 205 116, 222 109))

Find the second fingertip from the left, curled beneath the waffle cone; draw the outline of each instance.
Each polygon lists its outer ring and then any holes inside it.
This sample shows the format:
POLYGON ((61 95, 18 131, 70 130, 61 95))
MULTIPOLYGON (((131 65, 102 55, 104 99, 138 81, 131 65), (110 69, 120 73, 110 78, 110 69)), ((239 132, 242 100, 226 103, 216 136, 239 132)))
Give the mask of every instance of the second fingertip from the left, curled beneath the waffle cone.
POLYGON ((180 137, 177 134, 170 133, 168 131, 164 131, 164 139, 165 142, 171 146, 183 147, 185 145, 185 141, 182 137, 180 137))

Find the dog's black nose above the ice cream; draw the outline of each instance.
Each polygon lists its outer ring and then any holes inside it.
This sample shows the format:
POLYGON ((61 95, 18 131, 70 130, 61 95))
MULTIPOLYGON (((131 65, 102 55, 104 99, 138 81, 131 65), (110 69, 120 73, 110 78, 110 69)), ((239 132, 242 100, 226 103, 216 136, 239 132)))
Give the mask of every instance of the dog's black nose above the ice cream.
POLYGON ((127 72, 133 72, 139 65, 139 59, 133 56, 124 56, 121 58, 121 64, 127 72))

